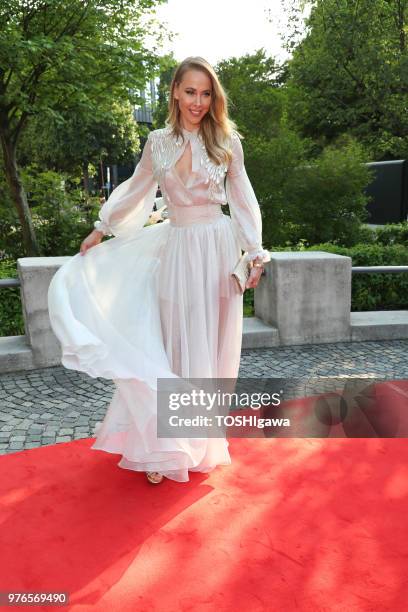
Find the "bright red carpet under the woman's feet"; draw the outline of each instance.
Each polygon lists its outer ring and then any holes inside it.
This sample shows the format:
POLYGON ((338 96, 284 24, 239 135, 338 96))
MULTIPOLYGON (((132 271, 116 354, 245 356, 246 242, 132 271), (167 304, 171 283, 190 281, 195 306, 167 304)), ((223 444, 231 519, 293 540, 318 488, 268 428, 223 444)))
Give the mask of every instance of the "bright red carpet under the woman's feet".
POLYGON ((70 596, 33 610, 406 610, 406 440, 230 439, 157 487, 92 442, 0 458, 0 591, 70 596))

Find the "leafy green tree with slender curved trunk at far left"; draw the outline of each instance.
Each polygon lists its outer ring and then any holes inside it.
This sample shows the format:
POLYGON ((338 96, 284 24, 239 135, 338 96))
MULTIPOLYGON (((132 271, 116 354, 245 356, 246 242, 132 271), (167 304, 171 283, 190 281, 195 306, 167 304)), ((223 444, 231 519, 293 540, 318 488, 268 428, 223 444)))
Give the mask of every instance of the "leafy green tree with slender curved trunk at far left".
POLYGON ((17 164, 19 140, 38 115, 102 118, 112 100, 141 101, 158 70, 163 0, 8 0, 0 5, 0 139, 28 255, 39 254, 17 164), (145 33, 155 41, 146 48, 145 33))

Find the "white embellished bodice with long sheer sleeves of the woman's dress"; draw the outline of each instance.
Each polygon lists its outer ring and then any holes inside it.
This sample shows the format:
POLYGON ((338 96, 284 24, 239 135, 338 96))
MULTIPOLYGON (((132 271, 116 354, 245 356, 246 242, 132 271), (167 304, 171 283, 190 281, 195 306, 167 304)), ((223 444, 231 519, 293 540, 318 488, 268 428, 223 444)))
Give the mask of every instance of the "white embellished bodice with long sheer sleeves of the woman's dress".
POLYGON ((221 205, 228 203, 231 228, 241 249, 248 251, 249 259, 269 261, 269 254, 262 248, 261 211, 245 170, 239 134, 231 131, 228 165, 209 158, 198 130, 183 130, 183 136, 184 140, 176 138, 170 126, 149 133, 132 176, 113 190, 99 211, 95 228, 105 235, 134 236, 147 222, 160 186, 169 219, 177 226, 225 223, 221 205), (191 159, 188 155, 183 182, 175 166, 188 142, 191 159))

